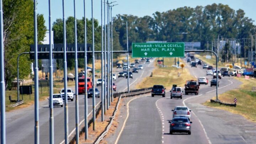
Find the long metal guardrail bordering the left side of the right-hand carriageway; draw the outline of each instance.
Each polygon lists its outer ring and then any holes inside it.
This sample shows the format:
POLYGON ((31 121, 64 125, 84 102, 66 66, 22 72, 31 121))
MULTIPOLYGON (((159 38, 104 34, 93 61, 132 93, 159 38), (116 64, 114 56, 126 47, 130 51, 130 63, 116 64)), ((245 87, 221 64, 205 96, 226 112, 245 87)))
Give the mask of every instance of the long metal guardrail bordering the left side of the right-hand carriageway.
MULTIPOLYGON (((143 91, 137 91, 137 92, 132 92, 132 93, 121 94, 119 96, 117 105, 116 105, 115 110, 114 110, 114 112, 112 114, 112 117, 110 117, 110 121, 108 122, 108 125, 106 126, 105 130, 94 141, 94 144, 100 143, 101 140, 107 135, 108 130, 111 128, 113 120, 116 117, 116 113, 117 113, 117 110, 118 110, 117 108, 119 106, 119 102, 120 102, 121 98, 132 97, 132 96, 136 96, 136 95, 142 95, 142 94, 149 93, 149 92, 151 92, 151 87, 150 88, 146 88, 146 89, 139 89, 139 90, 143 90, 143 91)), ((134 90, 134 91, 136 91, 136 90, 134 90)))

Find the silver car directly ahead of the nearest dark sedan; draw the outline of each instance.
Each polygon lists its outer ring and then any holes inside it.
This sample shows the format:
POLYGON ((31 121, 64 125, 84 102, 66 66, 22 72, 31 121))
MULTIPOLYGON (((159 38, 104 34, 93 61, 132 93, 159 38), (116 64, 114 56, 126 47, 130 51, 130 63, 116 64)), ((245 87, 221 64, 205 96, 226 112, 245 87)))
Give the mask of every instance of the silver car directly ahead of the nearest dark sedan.
POLYGON ((191 110, 188 108, 188 107, 184 107, 184 106, 176 106, 174 108, 173 111, 173 114, 172 114, 172 118, 175 118, 175 117, 186 117, 188 119, 190 119, 190 112, 191 110))

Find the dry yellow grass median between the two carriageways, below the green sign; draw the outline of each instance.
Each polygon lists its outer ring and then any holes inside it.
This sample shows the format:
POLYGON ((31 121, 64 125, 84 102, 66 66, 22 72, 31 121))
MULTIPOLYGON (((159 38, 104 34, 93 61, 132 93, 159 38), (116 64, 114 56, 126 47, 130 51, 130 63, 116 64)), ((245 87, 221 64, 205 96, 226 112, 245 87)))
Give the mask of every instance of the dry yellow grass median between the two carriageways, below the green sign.
MULTIPOLYGON (((183 60, 180 60, 181 63, 185 64, 183 60)), ((166 89, 171 89, 173 84, 178 86, 183 86, 186 80, 196 79, 190 74, 187 68, 177 69, 172 67, 174 64, 174 58, 165 58, 164 65, 167 65, 166 68, 159 67, 157 61, 155 60, 154 65, 156 68, 153 70, 153 76, 144 78, 142 82, 137 85, 138 89, 145 87, 152 87, 153 85, 164 85, 166 89), (181 73, 178 76, 178 73, 181 73)))

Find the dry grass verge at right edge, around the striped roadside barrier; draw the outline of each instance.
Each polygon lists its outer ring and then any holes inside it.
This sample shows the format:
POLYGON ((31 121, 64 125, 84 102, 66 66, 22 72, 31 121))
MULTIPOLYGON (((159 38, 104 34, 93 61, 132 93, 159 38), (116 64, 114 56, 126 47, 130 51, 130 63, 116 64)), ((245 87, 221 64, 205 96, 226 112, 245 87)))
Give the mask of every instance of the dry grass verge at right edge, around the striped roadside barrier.
MULTIPOLYGON (((252 87, 256 85, 256 81, 255 79, 235 79, 240 80, 243 84, 238 89, 230 90, 219 95, 219 100, 226 103, 234 103, 234 98, 237 98, 238 102, 236 103, 236 107, 223 106, 217 103, 210 103, 209 101, 205 102, 204 105, 240 114, 246 119, 256 122, 256 92, 252 91, 252 87)), ((213 97, 213 99, 215 99, 215 97, 213 97)))

